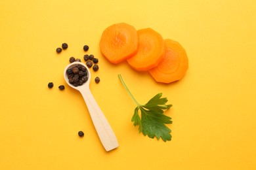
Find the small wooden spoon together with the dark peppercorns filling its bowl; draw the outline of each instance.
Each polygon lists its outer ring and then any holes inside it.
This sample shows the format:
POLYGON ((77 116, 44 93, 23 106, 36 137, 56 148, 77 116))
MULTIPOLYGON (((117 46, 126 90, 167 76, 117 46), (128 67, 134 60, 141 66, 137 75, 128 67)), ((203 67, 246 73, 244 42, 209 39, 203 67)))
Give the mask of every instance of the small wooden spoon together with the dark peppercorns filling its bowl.
POLYGON ((64 69, 64 78, 70 87, 78 90, 83 95, 98 137, 106 151, 117 148, 116 135, 89 89, 91 73, 88 67, 79 61, 70 63, 64 69))

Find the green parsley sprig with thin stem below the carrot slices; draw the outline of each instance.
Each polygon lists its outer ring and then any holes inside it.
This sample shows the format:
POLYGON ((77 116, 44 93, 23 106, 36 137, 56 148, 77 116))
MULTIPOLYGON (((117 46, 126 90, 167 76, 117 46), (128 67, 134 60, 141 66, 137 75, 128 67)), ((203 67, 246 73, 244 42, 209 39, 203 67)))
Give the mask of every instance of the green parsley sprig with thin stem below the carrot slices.
POLYGON ((165 104, 168 101, 167 98, 161 98, 162 93, 158 93, 150 99, 146 105, 140 105, 127 88, 125 82, 123 82, 121 75, 118 76, 121 83, 137 105, 131 121, 134 126, 139 126, 139 133, 142 132, 144 136, 148 135, 150 138, 156 137, 157 139, 160 139, 161 137, 165 142, 171 141, 171 129, 169 129, 165 124, 171 124, 172 121, 169 116, 163 114, 164 110, 167 110, 172 106, 165 104))

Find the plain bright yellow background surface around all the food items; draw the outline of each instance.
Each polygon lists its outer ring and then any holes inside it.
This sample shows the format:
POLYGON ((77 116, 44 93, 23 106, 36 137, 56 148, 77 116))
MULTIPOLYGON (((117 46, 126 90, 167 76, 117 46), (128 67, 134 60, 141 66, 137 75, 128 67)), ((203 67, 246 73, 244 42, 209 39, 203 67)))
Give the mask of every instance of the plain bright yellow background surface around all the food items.
POLYGON ((255 7, 254 0, 1 0, 0 169, 256 169, 255 7), (186 76, 158 84, 127 63, 108 63, 98 42, 118 22, 180 42, 186 76), (62 42, 69 47, 56 54, 62 42), (84 54, 99 59, 92 75, 101 82, 90 86, 119 141, 112 152, 100 144, 79 92, 64 82, 70 56, 84 54), (118 73, 139 103, 159 92, 168 97, 172 141, 133 126, 135 103, 118 73))

